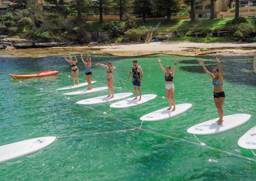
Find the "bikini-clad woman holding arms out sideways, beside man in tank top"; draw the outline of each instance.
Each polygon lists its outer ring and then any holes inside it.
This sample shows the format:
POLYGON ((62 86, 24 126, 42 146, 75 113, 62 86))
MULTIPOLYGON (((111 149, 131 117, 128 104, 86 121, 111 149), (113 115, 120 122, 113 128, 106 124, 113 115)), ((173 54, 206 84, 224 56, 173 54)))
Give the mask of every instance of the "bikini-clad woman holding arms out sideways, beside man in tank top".
POLYGON ((114 97, 114 87, 113 87, 113 84, 114 84, 114 77, 112 75, 113 71, 116 70, 116 67, 112 67, 111 66, 111 62, 108 62, 108 66, 106 65, 103 65, 101 63, 96 63, 95 66, 102 66, 102 67, 105 67, 107 69, 107 78, 106 78, 106 82, 107 82, 107 85, 108 85, 108 89, 109 89, 109 95, 108 97, 110 98, 113 98, 114 97), (112 96, 111 96, 111 92, 112 92, 112 96))

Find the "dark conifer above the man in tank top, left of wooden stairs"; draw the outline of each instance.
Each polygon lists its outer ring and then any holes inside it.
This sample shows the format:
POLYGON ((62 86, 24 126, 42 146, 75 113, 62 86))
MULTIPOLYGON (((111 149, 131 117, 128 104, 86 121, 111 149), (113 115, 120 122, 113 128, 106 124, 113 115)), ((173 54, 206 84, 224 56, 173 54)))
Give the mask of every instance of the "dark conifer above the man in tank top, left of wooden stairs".
POLYGON ((134 13, 142 16, 142 23, 146 22, 146 15, 151 15, 152 4, 149 0, 134 0, 134 13))

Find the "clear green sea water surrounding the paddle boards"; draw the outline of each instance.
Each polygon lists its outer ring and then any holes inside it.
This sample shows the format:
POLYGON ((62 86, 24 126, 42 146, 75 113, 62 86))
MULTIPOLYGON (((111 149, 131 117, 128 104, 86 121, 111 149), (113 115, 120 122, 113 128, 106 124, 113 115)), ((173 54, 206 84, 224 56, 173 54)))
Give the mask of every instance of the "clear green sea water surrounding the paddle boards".
MULTIPOLYGON (((41 154, 32 153, 0 163, 0 180, 17 181, 252 181, 256 180, 256 162, 202 147, 177 138, 199 143, 187 133, 197 123, 218 117, 213 101, 212 80, 197 63, 199 58, 172 55, 144 57, 116 57, 92 54, 93 63, 111 61, 115 93, 133 93, 127 76, 136 58, 143 68, 143 94, 157 94, 157 98, 136 107, 111 109, 108 114, 133 126, 140 126, 139 118, 167 107, 165 79, 157 58, 163 67, 178 58, 173 83, 176 104, 192 103, 191 109, 171 119, 143 122, 143 130, 59 138, 41 154)), ((78 56, 79 80, 85 82, 85 68, 78 56)), ((208 146, 240 156, 253 158, 251 150, 237 145, 238 139, 256 125, 256 74, 253 57, 220 56, 225 75, 226 94, 224 115, 246 113, 251 119, 244 125, 215 135, 197 138, 208 146)), ((218 66, 214 57, 206 57, 206 67, 218 66)), ((132 126, 101 114, 74 101, 108 94, 108 91, 79 95, 66 99, 56 88, 72 84, 70 66, 63 56, 41 58, 0 57, 0 146, 25 139, 44 136, 71 136, 133 129, 132 126), (58 70, 62 74, 42 78, 11 79, 8 74, 27 74, 58 70), (64 75, 65 74, 65 75, 64 75), (40 89, 42 88, 42 90, 40 89)), ((93 87, 105 86, 106 69, 92 67, 93 87), (100 83, 99 83, 100 82, 100 83), (103 84, 102 84, 103 83, 103 84)), ((80 88, 82 89, 82 88, 80 88)), ((91 105, 107 112, 110 103, 91 105)), ((255 158, 254 158, 255 159, 255 158)))

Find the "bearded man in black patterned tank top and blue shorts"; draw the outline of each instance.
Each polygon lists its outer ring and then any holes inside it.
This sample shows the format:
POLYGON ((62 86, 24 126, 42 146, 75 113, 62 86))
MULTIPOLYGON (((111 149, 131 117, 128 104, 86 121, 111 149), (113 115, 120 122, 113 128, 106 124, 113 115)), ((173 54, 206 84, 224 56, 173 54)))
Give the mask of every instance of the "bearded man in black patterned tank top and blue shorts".
POLYGON ((141 100, 140 83, 142 83, 143 71, 142 71, 142 68, 137 65, 137 60, 133 60, 132 64, 133 66, 132 66, 132 70, 129 73, 128 81, 129 81, 130 75, 132 74, 132 84, 133 84, 133 89, 135 93, 135 98, 133 100, 138 99, 137 97, 137 87, 138 87, 138 91, 140 95, 139 101, 140 101, 141 100))

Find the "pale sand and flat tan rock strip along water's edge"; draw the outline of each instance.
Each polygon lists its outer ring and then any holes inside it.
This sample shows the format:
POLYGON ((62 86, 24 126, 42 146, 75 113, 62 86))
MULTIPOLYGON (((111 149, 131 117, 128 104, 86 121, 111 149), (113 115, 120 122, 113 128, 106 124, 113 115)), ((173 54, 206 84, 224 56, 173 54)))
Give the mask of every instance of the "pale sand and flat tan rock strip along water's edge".
POLYGON ((49 48, 27 48, 1 50, 0 56, 49 56, 79 54, 80 52, 108 53, 116 56, 140 56, 148 54, 170 54, 181 56, 205 55, 249 55, 256 50, 256 43, 192 43, 192 42, 151 42, 113 43, 94 46, 66 46, 49 48))

